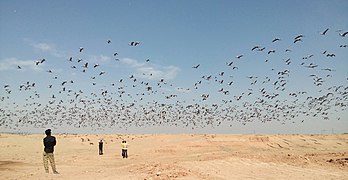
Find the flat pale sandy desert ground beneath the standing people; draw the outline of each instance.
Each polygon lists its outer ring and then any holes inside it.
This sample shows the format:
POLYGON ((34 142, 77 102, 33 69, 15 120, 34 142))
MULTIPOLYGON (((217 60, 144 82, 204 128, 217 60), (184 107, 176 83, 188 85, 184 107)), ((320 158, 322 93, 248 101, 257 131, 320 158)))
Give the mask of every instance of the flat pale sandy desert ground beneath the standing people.
POLYGON ((348 134, 55 136, 58 175, 44 171, 44 135, 1 134, 1 179, 348 179, 348 134))

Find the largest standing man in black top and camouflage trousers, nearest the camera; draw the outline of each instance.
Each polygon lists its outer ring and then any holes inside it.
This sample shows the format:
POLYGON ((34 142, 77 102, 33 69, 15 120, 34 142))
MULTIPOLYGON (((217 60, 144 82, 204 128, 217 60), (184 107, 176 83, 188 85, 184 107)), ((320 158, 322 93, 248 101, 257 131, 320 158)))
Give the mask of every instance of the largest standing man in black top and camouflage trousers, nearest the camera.
POLYGON ((43 152, 43 163, 46 173, 48 173, 48 160, 51 163, 52 171, 54 174, 59 174, 56 170, 56 164, 54 162, 54 146, 56 145, 56 138, 54 136, 51 136, 51 129, 47 129, 45 131, 46 137, 43 139, 44 143, 44 152, 43 152))

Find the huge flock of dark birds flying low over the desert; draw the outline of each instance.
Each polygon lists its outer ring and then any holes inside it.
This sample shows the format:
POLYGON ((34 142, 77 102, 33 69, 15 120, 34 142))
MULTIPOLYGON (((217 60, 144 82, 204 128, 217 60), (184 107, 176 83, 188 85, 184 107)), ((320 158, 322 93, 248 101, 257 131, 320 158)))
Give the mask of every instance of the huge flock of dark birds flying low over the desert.
MULTIPOLYGON (((195 129, 233 126, 233 122, 246 125, 255 121, 303 123, 309 118, 340 120, 341 112, 346 112, 348 105, 348 78, 339 83, 334 81, 337 71, 327 67, 326 62, 335 64, 348 57, 347 45, 340 44, 346 41, 348 32, 339 30, 337 33, 327 28, 314 36, 325 38, 330 33, 336 34, 337 47, 311 47, 308 53, 296 47, 306 42, 305 35, 299 34, 290 40, 275 37, 270 39, 270 47, 255 45, 224 63, 217 63, 223 70, 218 73, 204 71, 188 87, 179 87, 164 78, 147 80, 142 77, 152 76, 151 73, 115 77, 117 80, 106 83, 103 78, 108 72, 103 70, 102 65, 81 58, 88 48, 79 47, 76 48, 76 57, 67 57, 62 63, 77 76, 91 75, 84 82, 87 88, 77 84, 74 77, 62 79, 53 69, 45 70, 52 79, 49 84, 35 80, 3 84, 0 91, 0 126, 13 130, 66 126, 93 130, 148 126, 195 129), (283 41, 290 42, 286 44, 289 48, 277 46, 283 41), (333 52, 337 48, 345 52, 344 57, 333 52), (295 53, 302 55, 298 57, 293 55, 295 53), (254 73, 239 65, 243 61, 251 61, 249 54, 260 57, 259 61, 264 64, 260 68, 269 68, 266 74, 254 73), (275 59, 274 55, 282 58, 275 59), (296 76, 299 71, 306 76, 299 79, 296 76), (234 77, 239 74, 248 75, 242 78, 243 82, 236 82, 234 77), (247 88, 241 89, 239 83, 247 83, 247 88), (38 88, 38 84, 46 88, 38 88), (100 84, 102 86, 97 86, 100 84), (24 97, 20 102, 15 97, 18 93, 24 97), (45 96, 47 93, 50 95, 45 96)), ((105 46, 112 44, 109 39, 105 46)), ((130 48, 141 48, 143 45, 145 43, 139 41, 128 44, 130 48)), ((120 54, 110 52, 115 63, 122 61, 118 58, 120 54)), ((46 63, 50 63, 48 58, 33 62, 35 66, 46 63)), ((146 59, 144 63, 151 61, 146 59)), ((200 63, 186 68, 200 73, 204 66, 200 63)), ((22 71, 24 67, 17 65, 16 69, 22 71)))

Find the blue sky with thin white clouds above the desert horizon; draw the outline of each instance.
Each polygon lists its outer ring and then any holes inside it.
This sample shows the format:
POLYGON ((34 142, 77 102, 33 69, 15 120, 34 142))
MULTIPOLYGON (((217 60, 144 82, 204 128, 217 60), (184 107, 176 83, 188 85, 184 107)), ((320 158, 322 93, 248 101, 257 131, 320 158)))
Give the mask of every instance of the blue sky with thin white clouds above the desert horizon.
POLYGON ((346 133, 347 9, 1 1, 0 132, 346 133))

